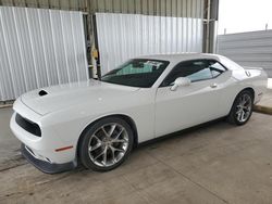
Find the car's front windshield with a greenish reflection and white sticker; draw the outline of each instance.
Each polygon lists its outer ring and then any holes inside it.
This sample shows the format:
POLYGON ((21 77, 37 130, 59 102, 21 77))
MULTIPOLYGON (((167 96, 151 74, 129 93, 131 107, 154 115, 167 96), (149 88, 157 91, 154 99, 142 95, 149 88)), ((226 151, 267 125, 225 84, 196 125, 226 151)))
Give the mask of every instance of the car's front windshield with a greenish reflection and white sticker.
POLYGON ((149 88, 169 65, 168 61, 134 59, 102 76, 106 82, 149 88))

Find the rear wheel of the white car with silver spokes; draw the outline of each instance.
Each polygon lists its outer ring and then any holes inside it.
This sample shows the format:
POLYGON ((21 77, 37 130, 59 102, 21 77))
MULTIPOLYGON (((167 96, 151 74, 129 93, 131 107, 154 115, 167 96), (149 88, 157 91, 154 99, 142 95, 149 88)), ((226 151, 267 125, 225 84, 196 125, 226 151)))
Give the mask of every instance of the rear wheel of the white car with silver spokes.
POLYGON ((252 114, 254 95, 250 91, 242 91, 235 99, 232 110, 227 116, 230 123, 244 125, 252 114))

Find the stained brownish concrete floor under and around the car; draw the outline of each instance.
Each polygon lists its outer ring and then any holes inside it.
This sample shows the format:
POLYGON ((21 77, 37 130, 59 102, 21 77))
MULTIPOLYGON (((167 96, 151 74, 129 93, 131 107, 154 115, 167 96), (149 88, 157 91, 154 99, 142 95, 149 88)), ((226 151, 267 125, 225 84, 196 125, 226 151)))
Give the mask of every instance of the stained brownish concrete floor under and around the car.
POLYGON ((18 155, 0 110, 0 203, 271 203, 272 116, 221 120, 135 150, 109 173, 46 175, 18 155))

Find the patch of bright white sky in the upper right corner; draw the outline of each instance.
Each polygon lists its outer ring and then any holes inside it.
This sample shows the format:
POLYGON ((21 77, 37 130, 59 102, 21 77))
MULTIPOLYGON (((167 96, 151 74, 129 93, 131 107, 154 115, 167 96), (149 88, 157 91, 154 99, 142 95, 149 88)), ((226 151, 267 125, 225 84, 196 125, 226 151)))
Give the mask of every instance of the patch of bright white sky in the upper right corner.
POLYGON ((272 29, 272 0, 220 0, 219 35, 272 29))

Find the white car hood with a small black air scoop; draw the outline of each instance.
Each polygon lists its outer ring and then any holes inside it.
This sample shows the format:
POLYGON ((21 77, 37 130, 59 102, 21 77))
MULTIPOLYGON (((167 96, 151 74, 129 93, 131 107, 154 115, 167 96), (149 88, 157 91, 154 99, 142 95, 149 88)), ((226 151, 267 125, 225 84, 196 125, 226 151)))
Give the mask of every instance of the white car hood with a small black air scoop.
POLYGON ((46 115, 85 102, 91 105, 99 101, 121 98, 138 89, 90 79, 37 89, 23 94, 21 100, 36 113, 46 115))

